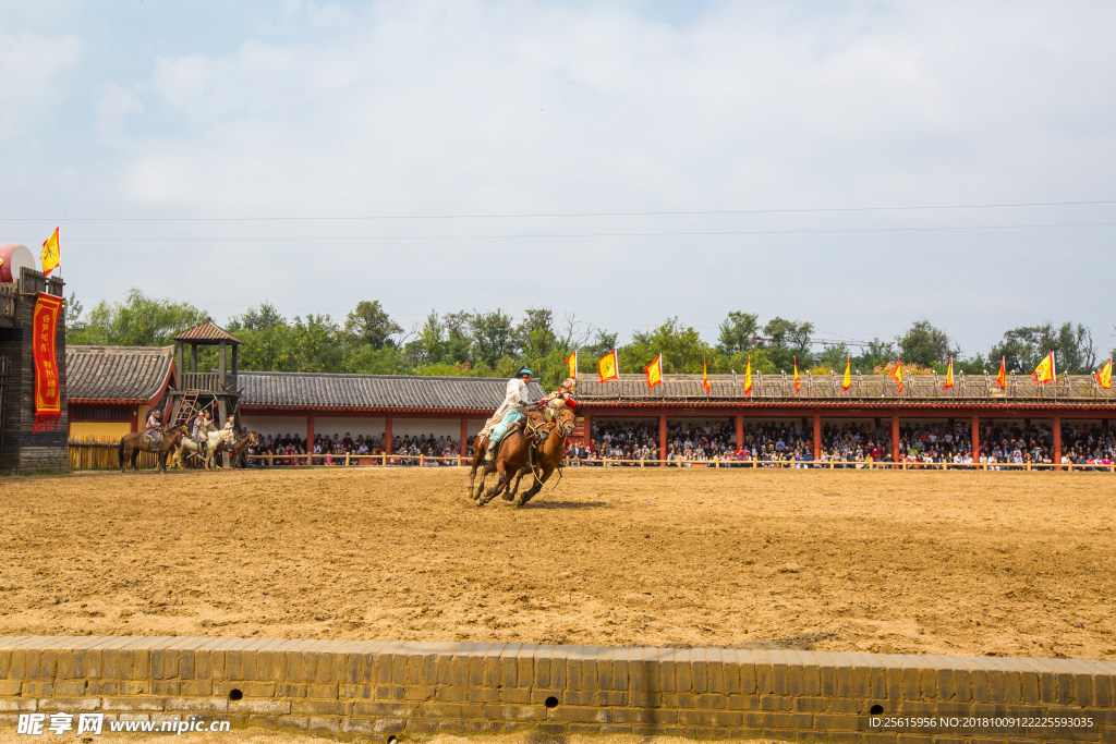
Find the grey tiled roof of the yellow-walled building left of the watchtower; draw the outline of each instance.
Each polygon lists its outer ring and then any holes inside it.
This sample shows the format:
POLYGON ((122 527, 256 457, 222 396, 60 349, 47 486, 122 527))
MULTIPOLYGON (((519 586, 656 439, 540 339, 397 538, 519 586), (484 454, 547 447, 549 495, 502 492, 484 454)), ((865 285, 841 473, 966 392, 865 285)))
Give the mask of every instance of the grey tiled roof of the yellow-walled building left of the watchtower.
POLYGON ((173 366, 173 346, 67 346, 66 397, 70 403, 150 403, 163 392, 173 366))

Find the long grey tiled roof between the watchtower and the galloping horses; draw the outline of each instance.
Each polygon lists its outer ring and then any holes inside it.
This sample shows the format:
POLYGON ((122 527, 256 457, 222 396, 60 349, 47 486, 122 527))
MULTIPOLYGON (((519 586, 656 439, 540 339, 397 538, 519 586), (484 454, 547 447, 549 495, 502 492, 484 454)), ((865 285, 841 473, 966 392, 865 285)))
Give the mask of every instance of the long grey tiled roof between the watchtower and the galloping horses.
MULTIPOLYGON (((492 412, 503 403, 508 380, 242 371, 237 385, 242 406, 492 412)), ((536 398, 546 395, 538 383, 529 389, 536 398)))

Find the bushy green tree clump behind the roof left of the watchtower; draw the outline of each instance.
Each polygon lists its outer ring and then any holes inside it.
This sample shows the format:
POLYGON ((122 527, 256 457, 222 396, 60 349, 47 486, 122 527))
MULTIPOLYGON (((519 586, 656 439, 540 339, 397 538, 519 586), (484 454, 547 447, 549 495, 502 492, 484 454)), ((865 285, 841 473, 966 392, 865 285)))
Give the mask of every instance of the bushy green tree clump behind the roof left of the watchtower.
POLYGON ((98 302, 89 310, 84 328, 68 336, 67 342, 165 346, 172 336, 204 322, 208 317, 189 302, 151 298, 133 288, 124 302, 98 302))

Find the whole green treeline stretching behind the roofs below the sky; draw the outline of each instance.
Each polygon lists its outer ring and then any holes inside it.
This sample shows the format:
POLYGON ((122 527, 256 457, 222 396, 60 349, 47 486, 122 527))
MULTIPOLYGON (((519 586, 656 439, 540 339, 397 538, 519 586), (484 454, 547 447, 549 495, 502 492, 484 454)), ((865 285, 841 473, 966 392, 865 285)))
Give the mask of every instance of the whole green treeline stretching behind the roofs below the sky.
MULTIPOLYGON (((88 312, 71 294, 66 303, 66 342, 165 346, 171 336, 206 317, 187 302, 150 298, 138 289, 123 302, 102 301, 88 312)), ((328 315, 287 318, 263 302, 233 317, 224 328, 246 344, 239 359, 243 370, 510 377, 527 366, 548 387, 566 377, 565 359, 574 349, 579 371, 590 375, 617 340, 617 334, 571 317, 559 320, 549 308, 528 309, 518 321, 501 309, 442 316, 432 311, 422 326, 405 331, 377 300, 357 303, 344 322, 328 315)), ((743 374, 749 358, 752 369, 761 373, 789 373, 795 358, 802 373, 843 373, 852 357, 853 370, 867 375, 894 364, 898 354, 911 373, 944 373, 951 356, 954 371, 966 374, 985 369, 995 374, 1001 357, 1009 371, 1030 374, 1050 351, 1061 373, 1086 374, 1098 363, 1089 328, 1071 322, 1011 329, 988 357, 964 355, 944 330, 925 319, 893 340, 877 338, 863 347, 818 348, 810 342, 814 335, 810 322, 773 318, 761 323, 756 313, 732 311, 711 345, 693 327, 667 318, 653 330, 636 331, 619 347, 620 370, 643 371, 660 352, 667 374, 699 374, 702 359, 708 359, 710 374, 743 374)), ((215 356, 214 349, 205 349, 202 368, 215 366, 215 356)))

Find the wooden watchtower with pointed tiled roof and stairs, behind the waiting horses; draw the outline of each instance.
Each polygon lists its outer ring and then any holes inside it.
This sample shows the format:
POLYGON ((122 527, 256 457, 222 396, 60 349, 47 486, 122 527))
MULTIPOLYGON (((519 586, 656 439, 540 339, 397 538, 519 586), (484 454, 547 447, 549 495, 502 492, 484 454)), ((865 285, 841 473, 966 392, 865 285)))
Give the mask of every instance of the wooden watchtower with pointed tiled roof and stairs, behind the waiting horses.
POLYGON ((174 378, 175 387, 170 393, 170 415, 166 424, 176 426, 185 424, 195 414, 212 408, 218 409, 218 427, 224 425, 230 415, 237 417, 240 426, 238 402, 240 390, 237 387, 237 349, 243 341, 224 330, 210 319, 200 326, 184 330, 172 337, 174 341, 174 378), (190 346, 190 370, 184 367, 185 347, 190 346), (198 347, 218 347, 218 370, 198 371, 198 347), (231 368, 229 349, 232 349, 231 368))

